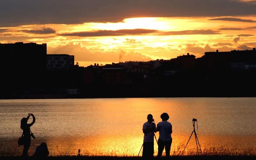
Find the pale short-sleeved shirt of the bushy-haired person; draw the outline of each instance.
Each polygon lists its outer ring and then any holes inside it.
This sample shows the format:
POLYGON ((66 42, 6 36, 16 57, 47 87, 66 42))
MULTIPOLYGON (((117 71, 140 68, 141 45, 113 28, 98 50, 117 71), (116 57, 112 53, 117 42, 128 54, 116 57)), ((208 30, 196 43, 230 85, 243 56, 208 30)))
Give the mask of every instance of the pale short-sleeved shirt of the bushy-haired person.
POLYGON ((172 124, 167 121, 162 121, 157 124, 156 130, 159 131, 159 139, 162 141, 170 141, 172 136, 172 124))

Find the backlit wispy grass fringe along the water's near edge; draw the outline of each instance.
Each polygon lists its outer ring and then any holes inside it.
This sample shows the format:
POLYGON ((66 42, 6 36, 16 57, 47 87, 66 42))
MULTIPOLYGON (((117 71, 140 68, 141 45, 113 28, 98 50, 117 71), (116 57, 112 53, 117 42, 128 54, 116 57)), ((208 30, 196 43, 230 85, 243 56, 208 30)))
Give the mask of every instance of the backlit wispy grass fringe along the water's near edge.
MULTIPOLYGON (((20 155, 22 154, 22 148, 16 148, 16 149, 11 149, 11 147, 7 148, 7 149, 1 149, 0 147, 0 158, 4 158, 4 159, 9 159, 9 158, 14 158, 14 159, 19 159, 20 155)), ((31 146, 30 153, 29 155, 33 155, 32 151, 34 150, 35 146, 31 146)), ((234 158, 242 158, 242 157, 254 157, 256 158, 256 148, 255 147, 247 147, 247 148, 243 148, 243 147, 228 147, 228 146, 221 146, 221 147, 209 147, 209 148, 204 148, 202 149, 202 153, 201 152, 197 152, 197 149, 195 148, 190 148, 184 151, 184 145, 178 145, 178 146, 174 146, 172 147, 171 150, 171 156, 172 158, 188 158, 188 157, 234 157, 234 158)), ((84 152, 81 153, 81 157, 84 158, 107 158, 107 157, 111 157, 111 158, 138 158, 138 153, 133 153, 133 154, 128 154, 129 152, 126 152, 125 154, 121 154, 117 153, 116 151, 109 151, 109 153, 105 153, 102 154, 100 152, 95 152, 95 153, 89 153, 89 152, 84 152)), ((140 156, 142 154, 142 151, 140 152, 140 156)), ((155 156, 157 154, 157 151, 155 150, 155 156)), ((164 156, 164 153, 163 153, 164 156)), ((68 154, 67 152, 65 153, 51 153, 50 151, 50 157, 48 159, 77 159, 77 158, 81 158, 81 157, 77 157, 71 154, 68 154)))

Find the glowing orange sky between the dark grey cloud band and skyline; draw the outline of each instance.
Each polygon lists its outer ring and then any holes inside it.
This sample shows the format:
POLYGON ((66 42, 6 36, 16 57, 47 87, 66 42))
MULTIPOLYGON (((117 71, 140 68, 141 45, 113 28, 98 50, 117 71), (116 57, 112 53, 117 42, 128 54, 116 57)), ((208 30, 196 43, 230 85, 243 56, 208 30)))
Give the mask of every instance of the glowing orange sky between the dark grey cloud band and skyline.
MULTIPOLYGON (((11 23, 11 22, 10 22, 11 23)), ((22 22, 23 23, 23 22, 22 22)), ((256 18, 246 16, 141 17, 117 22, 0 25, 0 42, 47 43, 48 54, 75 55, 80 66, 171 59, 206 51, 256 46, 256 18)))

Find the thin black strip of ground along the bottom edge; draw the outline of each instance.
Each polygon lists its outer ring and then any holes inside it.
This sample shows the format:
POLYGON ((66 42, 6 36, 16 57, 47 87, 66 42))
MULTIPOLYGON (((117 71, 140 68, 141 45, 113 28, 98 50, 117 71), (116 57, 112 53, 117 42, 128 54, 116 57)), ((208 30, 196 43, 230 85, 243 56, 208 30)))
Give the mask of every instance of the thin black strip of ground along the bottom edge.
MULTIPOLYGON (((0 156, 1 160, 20 160, 23 159, 22 157, 15 156, 15 157, 3 157, 0 156)), ((54 157, 47 157, 47 158, 33 158, 28 157, 26 158, 28 160, 33 159, 51 159, 51 160, 64 160, 64 159, 70 159, 70 160, 77 160, 77 159, 116 159, 116 160, 122 160, 122 159, 143 159, 142 157, 116 157, 116 156, 54 156, 54 157)), ((170 158, 152 158, 152 159, 172 159, 172 160, 203 160, 203 159, 256 159, 256 156, 171 156, 170 158)))

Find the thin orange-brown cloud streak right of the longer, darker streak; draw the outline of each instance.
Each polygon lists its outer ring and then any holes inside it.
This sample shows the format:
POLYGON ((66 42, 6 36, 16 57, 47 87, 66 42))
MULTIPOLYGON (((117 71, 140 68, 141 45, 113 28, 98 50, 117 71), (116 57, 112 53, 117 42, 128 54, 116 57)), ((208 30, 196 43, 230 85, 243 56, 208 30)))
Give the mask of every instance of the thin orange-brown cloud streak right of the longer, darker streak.
POLYGON ((220 34, 220 31, 213 30, 185 30, 185 31, 170 31, 162 32, 159 35, 191 35, 191 34, 220 34))

